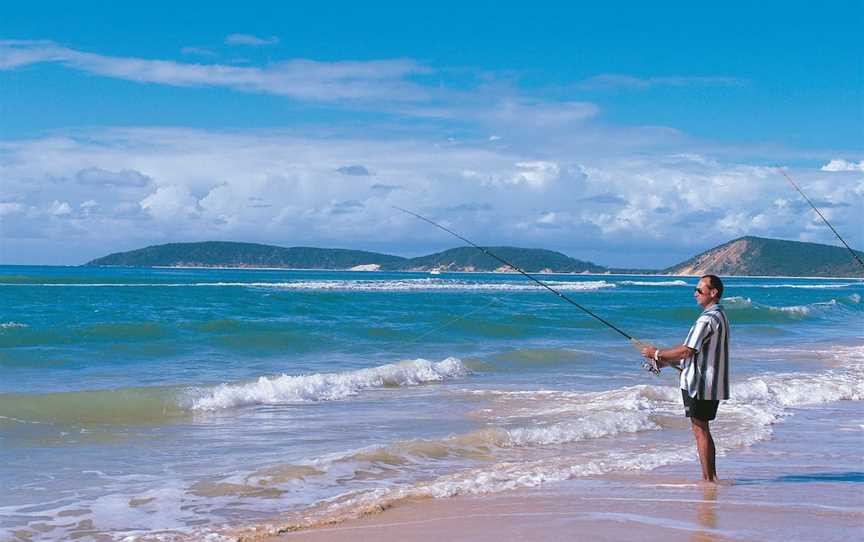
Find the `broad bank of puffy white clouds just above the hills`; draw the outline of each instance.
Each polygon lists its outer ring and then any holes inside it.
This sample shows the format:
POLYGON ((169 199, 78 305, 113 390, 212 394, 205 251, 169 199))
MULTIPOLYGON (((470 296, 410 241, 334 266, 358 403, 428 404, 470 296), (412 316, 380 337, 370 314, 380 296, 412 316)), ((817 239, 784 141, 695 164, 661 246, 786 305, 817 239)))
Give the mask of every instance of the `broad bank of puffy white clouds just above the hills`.
MULTIPOLYGON (((586 256, 579 247, 600 246, 592 257, 610 264, 626 265, 628 254, 648 248, 659 251, 658 266, 672 264, 747 234, 830 242, 776 169, 704 152, 704 159, 682 159, 680 149, 604 154, 573 144, 540 155, 490 148, 485 138, 439 145, 115 129, 5 142, 2 150, 4 237, 43 235, 58 247, 73 234, 103 249, 121 240, 134 248, 219 238, 414 254, 453 246, 394 205, 482 244, 577 257, 586 256), (375 176, 334 174, 346 156, 368 157, 362 167, 375 176)), ((826 211, 850 242, 864 241, 853 227, 864 182, 825 179, 818 170, 794 174, 814 201, 833 204, 826 211)))

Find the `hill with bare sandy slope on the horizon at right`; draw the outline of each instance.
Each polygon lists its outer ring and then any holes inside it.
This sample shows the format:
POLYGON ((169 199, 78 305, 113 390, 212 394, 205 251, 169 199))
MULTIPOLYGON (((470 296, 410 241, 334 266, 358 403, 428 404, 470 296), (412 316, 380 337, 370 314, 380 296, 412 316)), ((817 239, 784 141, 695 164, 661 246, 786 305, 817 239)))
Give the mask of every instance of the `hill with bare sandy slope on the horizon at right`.
MULTIPOLYGON (((856 252, 864 258, 864 252, 856 252)), ((843 247, 751 236, 714 247, 661 273, 864 277, 864 269, 843 247)))

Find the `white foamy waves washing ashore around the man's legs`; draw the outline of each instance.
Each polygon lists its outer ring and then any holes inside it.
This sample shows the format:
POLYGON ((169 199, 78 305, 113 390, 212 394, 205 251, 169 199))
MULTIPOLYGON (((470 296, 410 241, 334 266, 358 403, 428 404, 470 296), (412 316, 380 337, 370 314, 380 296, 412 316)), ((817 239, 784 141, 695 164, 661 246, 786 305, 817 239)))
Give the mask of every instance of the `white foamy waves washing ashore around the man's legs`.
MULTIPOLYGON (((723 416, 716 422, 718 432, 723 435, 718 440, 718 452, 722 454, 770 438, 773 426, 791 415, 793 408, 841 400, 864 400, 864 348, 839 347, 833 354, 843 359, 841 368, 823 373, 760 375, 733 385, 732 399, 723 403, 723 416), (725 429, 727 426, 728 430, 725 429)), ((600 393, 494 390, 477 390, 476 393, 505 403, 530 403, 534 409, 543 406, 545 400, 545 411, 534 412, 541 417, 553 411, 560 414, 563 403, 572 409, 572 419, 544 426, 490 427, 438 441, 397 442, 328 458, 314 464, 316 473, 323 475, 333 464, 346 461, 360 463, 354 467, 358 473, 368 472, 370 463, 405 469, 408 468, 406 465, 416 462, 428 469, 428 460, 422 461, 424 456, 441 458, 458 454, 472 457, 466 449, 483 452, 485 461, 429 480, 384 487, 379 484, 371 489, 343 493, 314 510, 304 510, 294 521, 289 518, 287 523, 257 525, 248 537, 241 539, 253 540, 258 536, 355 519, 380 512, 406 499, 497 493, 574 477, 652 470, 695 460, 689 441, 677 443, 662 439, 655 444, 658 446, 656 449, 626 440, 599 450, 585 447, 582 451, 582 446, 566 446, 616 434, 664 429, 667 423, 664 418, 674 416, 680 419, 681 416, 678 391, 668 386, 639 385, 600 393), (606 410, 613 404, 617 404, 616 409, 606 410), (503 452, 494 451, 546 445, 564 446, 556 448, 554 454, 525 456, 523 460, 509 460, 508 456, 500 455, 503 452)), ((496 403, 497 406, 500 405, 496 403)), ((293 466, 291 472, 297 468, 293 466)), ((344 474, 345 471, 341 470, 340 475, 344 474)), ((258 480, 257 483, 260 485, 262 482, 258 480)))

